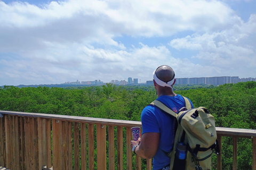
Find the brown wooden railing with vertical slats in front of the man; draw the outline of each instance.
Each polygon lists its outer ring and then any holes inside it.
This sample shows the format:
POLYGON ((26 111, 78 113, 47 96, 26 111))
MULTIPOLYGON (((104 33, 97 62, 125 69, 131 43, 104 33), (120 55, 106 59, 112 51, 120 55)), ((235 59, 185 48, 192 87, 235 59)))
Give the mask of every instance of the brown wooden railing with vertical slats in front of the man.
MULTIPOLYGON (((141 127, 141 122, 0 111, 0 167, 151 170, 151 159, 132 154, 133 126, 141 127)), ((233 169, 237 169, 237 138, 252 139, 256 170, 256 130, 216 129, 220 148, 223 136, 233 137, 233 169)), ((218 170, 221 160, 219 155, 218 170)))

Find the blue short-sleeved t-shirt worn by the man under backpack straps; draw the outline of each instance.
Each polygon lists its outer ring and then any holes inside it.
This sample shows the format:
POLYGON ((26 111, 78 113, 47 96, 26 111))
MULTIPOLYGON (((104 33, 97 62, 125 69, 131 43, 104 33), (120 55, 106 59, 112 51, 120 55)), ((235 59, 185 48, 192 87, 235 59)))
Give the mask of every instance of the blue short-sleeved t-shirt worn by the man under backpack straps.
MULTIPOLYGON (((172 111, 178 113, 179 109, 185 107, 185 101, 181 95, 174 97, 159 96, 157 100, 161 101, 172 111)), ((190 100, 189 100, 190 101, 190 100)), ((191 103, 191 101, 190 101, 191 103)), ((193 108, 193 104, 191 103, 193 108)), ((160 141, 156 155, 153 158, 153 169, 160 169, 170 164, 170 153, 173 148, 177 120, 175 117, 162 112, 159 108, 148 105, 141 113, 142 134, 147 132, 160 133, 160 141)))

